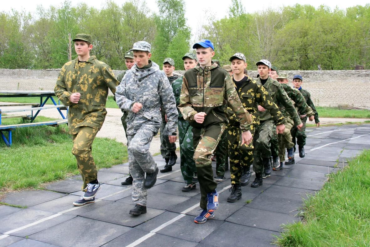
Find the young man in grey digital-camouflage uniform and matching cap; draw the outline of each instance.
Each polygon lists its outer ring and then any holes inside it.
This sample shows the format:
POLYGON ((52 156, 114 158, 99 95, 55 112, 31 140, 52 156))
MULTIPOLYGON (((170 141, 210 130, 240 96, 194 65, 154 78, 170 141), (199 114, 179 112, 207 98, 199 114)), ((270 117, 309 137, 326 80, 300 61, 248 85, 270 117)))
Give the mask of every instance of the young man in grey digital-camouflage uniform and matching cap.
POLYGON ((166 75, 152 62, 151 45, 145 41, 134 44, 136 64, 127 71, 117 87, 115 97, 120 109, 128 112, 128 162, 132 178, 132 201, 135 207, 129 214, 147 213, 147 190, 157 181, 158 167, 149 152, 153 136, 161 126, 162 108, 167 116, 166 128, 161 134, 176 141, 177 110, 175 97, 166 75), (144 176, 146 173, 146 177, 144 176))

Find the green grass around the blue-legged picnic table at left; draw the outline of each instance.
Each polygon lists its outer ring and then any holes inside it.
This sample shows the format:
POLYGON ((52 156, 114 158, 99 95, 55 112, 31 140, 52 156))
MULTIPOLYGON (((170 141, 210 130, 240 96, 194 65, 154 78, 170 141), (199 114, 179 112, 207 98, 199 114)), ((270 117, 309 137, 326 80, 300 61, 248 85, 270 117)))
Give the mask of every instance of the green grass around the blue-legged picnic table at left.
MULTIPOLYGON (((50 118, 37 117, 37 121, 50 118)), ((3 124, 21 123, 4 119, 3 124)), ((0 190, 40 188, 40 184, 79 174, 67 125, 36 126, 13 131, 13 145, 0 142, 0 190)), ((109 138, 95 138, 92 155, 98 168, 127 161, 127 148, 109 138)))

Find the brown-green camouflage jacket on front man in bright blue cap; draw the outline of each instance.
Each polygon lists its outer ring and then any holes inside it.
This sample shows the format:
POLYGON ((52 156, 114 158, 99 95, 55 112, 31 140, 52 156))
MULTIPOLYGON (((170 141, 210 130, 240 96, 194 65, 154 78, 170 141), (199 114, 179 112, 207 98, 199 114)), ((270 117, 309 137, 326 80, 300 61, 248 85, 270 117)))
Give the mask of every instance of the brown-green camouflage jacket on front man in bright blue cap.
POLYGON ((215 123, 228 123, 227 106, 235 112, 240 129, 248 131, 252 119, 243 109, 238 93, 229 73, 216 63, 204 70, 197 65, 183 76, 180 104, 182 116, 195 128, 203 128, 215 123), (194 115, 205 112, 203 123, 194 121, 194 115))

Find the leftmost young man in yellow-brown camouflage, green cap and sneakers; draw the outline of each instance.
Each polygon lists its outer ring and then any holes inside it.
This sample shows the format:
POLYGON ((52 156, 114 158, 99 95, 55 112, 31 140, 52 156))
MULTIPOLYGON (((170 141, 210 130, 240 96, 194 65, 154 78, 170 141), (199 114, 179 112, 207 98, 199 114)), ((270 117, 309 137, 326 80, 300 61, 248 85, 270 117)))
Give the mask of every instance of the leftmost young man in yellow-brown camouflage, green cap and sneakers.
POLYGON ((90 56, 91 36, 76 34, 74 48, 78 57, 63 65, 54 88, 55 95, 69 106, 68 128, 72 135, 72 153, 83 180, 85 194, 73 202, 82 206, 95 201, 100 189, 98 171, 91 155, 92 142, 103 125, 107 110, 108 88, 115 93, 119 84, 111 68, 90 56))

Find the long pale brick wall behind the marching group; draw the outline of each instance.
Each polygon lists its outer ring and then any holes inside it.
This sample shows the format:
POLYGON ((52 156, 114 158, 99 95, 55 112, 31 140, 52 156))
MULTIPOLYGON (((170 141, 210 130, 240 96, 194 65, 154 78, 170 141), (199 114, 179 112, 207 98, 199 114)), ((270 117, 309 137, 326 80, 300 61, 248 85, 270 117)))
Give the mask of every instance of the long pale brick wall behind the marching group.
MULTIPOLYGON (((0 90, 53 90, 59 69, 0 69, 0 90)), ((121 71, 114 70, 115 75, 121 71)), ((176 71, 184 73, 184 71, 176 71)), ((370 70, 280 71, 302 75, 303 88, 318 106, 355 105, 370 107, 370 70)), ((257 71, 248 71, 253 78, 257 71)), ((110 92, 111 95, 111 92, 110 92)))

